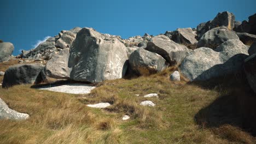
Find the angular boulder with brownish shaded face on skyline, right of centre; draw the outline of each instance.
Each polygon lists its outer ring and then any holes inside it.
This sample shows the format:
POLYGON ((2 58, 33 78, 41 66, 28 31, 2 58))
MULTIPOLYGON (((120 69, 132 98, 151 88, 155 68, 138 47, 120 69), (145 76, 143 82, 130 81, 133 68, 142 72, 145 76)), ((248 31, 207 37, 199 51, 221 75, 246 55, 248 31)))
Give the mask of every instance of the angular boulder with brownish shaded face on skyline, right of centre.
POLYGON ((173 31, 171 40, 194 50, 197 44, 195 37, 196 34, 191 28, 178 28, 176 31, 173 31))

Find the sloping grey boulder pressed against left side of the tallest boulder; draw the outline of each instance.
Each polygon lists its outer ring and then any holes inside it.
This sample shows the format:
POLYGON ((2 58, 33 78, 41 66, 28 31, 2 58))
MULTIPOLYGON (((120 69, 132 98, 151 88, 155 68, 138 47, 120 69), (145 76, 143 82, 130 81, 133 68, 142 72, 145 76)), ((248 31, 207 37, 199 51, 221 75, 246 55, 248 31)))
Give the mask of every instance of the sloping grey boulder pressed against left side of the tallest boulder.
POLYGON ((69 79, 71 70, 68 68, 68 58, 68 48, 54 54, 45 65, 45 74, 55 79, 69 79))

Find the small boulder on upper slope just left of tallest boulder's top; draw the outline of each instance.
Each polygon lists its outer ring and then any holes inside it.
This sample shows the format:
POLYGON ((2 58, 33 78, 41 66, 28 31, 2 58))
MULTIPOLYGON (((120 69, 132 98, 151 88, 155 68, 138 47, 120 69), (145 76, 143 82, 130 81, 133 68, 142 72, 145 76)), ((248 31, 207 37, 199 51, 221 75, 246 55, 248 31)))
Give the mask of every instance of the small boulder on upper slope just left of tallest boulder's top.
POLYGON ((61 49, 69 48, 73 43, 75 36, 75 33, 71 31, 65 31, 61 35, 60 39, 56 41, 56 47, 61 49))

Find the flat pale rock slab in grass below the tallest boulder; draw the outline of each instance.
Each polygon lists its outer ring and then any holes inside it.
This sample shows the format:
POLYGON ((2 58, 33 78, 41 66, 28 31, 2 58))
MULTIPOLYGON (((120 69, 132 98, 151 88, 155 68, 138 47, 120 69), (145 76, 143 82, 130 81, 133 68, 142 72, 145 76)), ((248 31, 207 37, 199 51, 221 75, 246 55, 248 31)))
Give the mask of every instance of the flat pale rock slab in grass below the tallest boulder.
POLYGON ((53 91, 53 92, 61 92, 61 93, 72 93, 72 94, 88 94, 92 89, 96 87, 90 86, 85 83, 69 83, 61 86, 53 86, 53 87, 41 87, 37 89, 53 91))

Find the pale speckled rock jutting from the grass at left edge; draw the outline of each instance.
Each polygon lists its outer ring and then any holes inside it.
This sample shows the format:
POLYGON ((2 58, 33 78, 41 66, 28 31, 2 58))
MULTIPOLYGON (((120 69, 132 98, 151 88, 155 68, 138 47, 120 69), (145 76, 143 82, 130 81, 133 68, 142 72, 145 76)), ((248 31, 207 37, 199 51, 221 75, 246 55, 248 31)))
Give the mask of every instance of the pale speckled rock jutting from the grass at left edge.
POLYGON ((14 120, 24 120, 27 119, 29 115, 26 113, 20 113, 11 110, 7 104, 0 98, 0 119, 14 119, 14 120))

